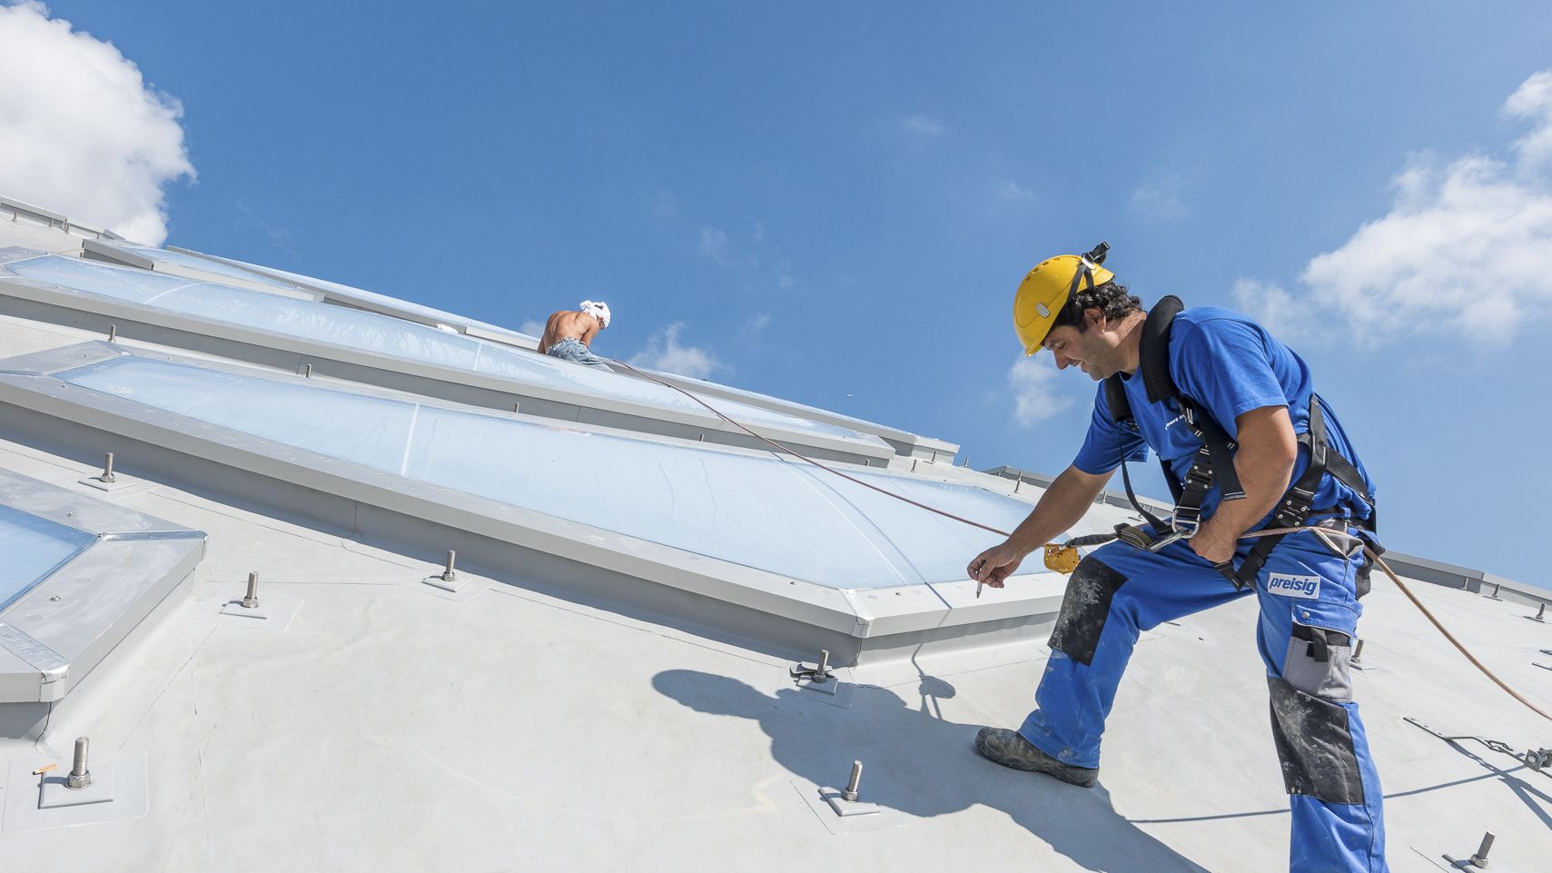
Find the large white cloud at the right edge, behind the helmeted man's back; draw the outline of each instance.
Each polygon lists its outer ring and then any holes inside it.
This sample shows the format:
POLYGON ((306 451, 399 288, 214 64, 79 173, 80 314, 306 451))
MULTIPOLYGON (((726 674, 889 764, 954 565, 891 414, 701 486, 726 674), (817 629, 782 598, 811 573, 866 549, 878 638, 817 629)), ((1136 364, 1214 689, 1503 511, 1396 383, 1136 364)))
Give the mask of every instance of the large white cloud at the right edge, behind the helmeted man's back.
POLYGON ((1443 336, 1479 346, 1504 345, 1546 318, 1552 70, 1526 79, 1504 113, 1532 127, 1510 146, 1512 157, 1473 154, 1440 166, 1412 155, 1394 180, 1391 211, 1313 258, 1299 275, 1302 294, 1249 283, 1246 297, 1262 308, 1248 308, 1273 317, 1282 309, 1305 328, 1318 318, 1327 336, 1335 328, 1370 342, 1443 336))

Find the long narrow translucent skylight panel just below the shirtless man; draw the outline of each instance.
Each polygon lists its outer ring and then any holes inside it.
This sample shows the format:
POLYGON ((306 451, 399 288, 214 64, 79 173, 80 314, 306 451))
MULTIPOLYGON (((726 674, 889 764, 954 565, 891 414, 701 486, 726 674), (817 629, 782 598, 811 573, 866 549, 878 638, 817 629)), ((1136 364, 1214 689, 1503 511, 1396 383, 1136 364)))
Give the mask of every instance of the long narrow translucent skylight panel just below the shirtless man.
MULTIPOLYGON (((622 399, 656 409, 711 415, 705 407, 683 393, 655 382, 621 373, 605 373, 590 367, 579 367, 532 351, 484 342, 376 312, 57 255, 14 261, 5 264, 3 269, 23 278, 47 281, 115 300, 155 306, 182 315, 194 315, 439 367, 486 373, 598 399, 622 399)), ((737 401, 709 399, 708 402, 736 421, 843 440, 864 440, 846 427, 809 421, 745 405, 737 401)))

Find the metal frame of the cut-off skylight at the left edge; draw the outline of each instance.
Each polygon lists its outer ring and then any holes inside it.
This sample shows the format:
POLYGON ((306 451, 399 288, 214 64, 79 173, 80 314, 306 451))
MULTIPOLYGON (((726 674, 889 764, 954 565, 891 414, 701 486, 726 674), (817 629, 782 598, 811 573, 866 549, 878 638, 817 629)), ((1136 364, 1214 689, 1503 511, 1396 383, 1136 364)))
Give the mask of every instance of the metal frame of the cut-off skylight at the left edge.
MULTIPOLYGON (((0 506, 73 531, 68 559, 0 609, 0 736, 36 729, 132 631, 146 623, 205 555, 205 534, 0 469, 0 506)), ((14 562, 8 572, 17 572, 14 562)))

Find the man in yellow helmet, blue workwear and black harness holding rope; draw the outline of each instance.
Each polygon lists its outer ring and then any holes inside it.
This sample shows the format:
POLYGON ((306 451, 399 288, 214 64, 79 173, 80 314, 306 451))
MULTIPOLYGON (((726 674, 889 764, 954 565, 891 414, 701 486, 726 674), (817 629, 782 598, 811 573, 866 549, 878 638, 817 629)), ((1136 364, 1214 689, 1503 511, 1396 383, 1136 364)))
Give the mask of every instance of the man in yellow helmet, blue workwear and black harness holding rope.
POLYGON ((1001 587, 1147 449, 1178 485, 1176 508, 1122 530, 1072 569, 1037 708, 1017 730, 982 729, 976 749, 998 764, 1093 784, 1138 634, 1256 596, 1291 805, 1290 867, 1387 870, 1380 778, 1349 680, 1372 564, 1366 545, 1381 551, 1374 486, 1297 354, 1228 309, 1166 298, 1144 312, 1102 266, 1107 249, 1051 258, 1020 286, 1024 353, 1051 350, 1057 368, 1077 367, 1102 385, 1077 458, 968 573, 1001 587), (1242 539, 1285 527, 1302 530, 1242 539))

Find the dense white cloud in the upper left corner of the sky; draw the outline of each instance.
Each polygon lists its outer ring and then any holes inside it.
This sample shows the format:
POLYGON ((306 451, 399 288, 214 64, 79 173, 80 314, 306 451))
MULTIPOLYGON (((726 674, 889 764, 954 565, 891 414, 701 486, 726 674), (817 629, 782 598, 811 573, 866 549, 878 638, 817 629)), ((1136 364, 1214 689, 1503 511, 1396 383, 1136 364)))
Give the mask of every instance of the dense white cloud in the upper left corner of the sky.
POLYGON ((161 190, 194 177, 182 115, 113 43, 0 6, 0 193, 160 245, 161 190))

